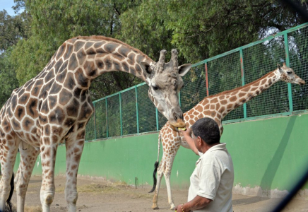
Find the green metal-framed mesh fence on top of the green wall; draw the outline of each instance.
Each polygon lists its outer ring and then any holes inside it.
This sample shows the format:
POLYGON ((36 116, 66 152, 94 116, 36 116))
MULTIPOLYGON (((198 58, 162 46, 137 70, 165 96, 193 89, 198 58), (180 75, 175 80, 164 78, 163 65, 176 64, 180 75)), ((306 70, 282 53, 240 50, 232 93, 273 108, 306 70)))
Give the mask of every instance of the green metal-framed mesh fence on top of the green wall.
MULTIPOLYGON (((193 65, 179 96, 182 111, 208 95, 244 86, 285 62, 308 81, 308 23, 193 65)), ((122 90, 93 102, 85 140, 159 131, 167 119, 148 98, 148 85, 122 90)), ((308 86, 278 82, 225 117, 224 123, 308 112, 308 86)))

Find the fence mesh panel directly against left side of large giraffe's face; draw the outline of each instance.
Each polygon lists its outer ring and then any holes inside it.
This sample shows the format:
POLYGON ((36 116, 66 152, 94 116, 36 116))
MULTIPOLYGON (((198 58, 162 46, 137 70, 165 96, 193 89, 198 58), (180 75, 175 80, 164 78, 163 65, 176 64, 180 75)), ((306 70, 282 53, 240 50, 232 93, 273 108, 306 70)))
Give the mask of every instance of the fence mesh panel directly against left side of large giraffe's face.
POLYGON ((148 85, 138 86, 137 99, 139 133, 156 131, 156 111, 153 102, 148 98, 148 85))

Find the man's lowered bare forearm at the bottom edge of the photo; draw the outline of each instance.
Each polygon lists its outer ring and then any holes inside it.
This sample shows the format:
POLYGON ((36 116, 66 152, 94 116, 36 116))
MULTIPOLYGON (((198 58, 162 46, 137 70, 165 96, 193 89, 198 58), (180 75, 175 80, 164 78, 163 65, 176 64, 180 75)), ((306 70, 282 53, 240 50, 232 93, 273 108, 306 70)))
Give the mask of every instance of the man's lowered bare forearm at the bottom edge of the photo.
POLYGON ((186 204, 178 205, 175 208, 175 211, 177 211, 177 212, 182 212, 182 211, 189 212, 189 211, 198 210, 198 209, 206 207, 208 204, 211 203, 211 201, 213 201, 213 200, 197 195, 194 199, 187 202, 186 204))

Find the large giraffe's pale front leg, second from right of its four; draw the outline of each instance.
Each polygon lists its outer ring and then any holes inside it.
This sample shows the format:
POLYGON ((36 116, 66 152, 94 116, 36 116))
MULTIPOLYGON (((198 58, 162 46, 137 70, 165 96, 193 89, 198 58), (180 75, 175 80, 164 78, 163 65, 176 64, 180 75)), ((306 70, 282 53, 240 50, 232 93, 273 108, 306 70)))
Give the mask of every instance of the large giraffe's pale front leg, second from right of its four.
POLYGON ((40 152, 42 160, 42 187, 40 191, 40 201, 42 211, 49 212, 50 205, 54 201, 54 165, 56 163, 56 155, 59 140, 57 136, 49 137, 42 136, 40 141, 40 152), (58 141, 57 141, 58 140, 58 141))

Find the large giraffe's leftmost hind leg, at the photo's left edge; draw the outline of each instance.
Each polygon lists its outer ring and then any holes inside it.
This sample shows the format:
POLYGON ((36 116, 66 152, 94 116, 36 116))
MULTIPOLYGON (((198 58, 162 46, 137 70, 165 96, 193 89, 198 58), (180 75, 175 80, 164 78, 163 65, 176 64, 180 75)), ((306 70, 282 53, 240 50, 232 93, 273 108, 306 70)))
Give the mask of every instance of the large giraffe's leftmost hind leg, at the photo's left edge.
POLYGON ((1 161, 1 181, 0 181, 0 211, 6 208, 6 201, 11 192, 11 179, 13 175, 13 167, 18 151, 19 140, 8 140, 1 138, 0 140, 0 161, 1 161))

